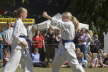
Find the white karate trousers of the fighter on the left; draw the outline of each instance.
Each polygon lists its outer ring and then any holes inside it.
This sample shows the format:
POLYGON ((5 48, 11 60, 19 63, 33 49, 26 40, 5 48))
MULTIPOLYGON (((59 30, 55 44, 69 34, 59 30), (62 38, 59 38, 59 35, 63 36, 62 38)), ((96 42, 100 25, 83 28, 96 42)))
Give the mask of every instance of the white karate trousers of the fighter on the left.
POLYGON ((12 51, 12 56, 3 72, 15 72, 19 64, 21 64, 23 72, 32 72, 32 60, 29 53, 25 53, 25 49, 14 49, 12 51))

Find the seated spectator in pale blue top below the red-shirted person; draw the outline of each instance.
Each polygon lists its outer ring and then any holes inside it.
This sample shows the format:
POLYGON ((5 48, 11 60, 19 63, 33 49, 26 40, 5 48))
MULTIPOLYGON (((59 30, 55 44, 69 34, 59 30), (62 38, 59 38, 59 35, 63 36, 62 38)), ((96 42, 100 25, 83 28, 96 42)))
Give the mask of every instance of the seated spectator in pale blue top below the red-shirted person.
POLYGON ((40 54, 37 48, 35 48, 34 52, 32 53, 32 63, 34 67, 46 67, 47 66, 47 63, 40 61, 40 54))

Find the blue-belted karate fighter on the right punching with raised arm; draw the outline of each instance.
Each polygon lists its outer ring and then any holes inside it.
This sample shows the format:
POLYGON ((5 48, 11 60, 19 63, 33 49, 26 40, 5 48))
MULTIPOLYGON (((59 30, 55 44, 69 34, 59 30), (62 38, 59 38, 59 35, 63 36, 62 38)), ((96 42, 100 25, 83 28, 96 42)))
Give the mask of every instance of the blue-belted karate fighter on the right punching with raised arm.
POLYGON ((72 23, 72 15, 70 12, 64 12, 62 20, 55 20, 43 12, 43 17, 50 19, 51 24, 59 27, 61 32, 62 41, 59 45, 58 52, 56 52, 55 59, 52 65, 52 72, 59 72, 60 66, 64 61, 68 61, 74 72, 85 72, 82 66, 79 64, 76 54, 75 54, 75 45, 73 39, 75 37, 75 28, 72 23))

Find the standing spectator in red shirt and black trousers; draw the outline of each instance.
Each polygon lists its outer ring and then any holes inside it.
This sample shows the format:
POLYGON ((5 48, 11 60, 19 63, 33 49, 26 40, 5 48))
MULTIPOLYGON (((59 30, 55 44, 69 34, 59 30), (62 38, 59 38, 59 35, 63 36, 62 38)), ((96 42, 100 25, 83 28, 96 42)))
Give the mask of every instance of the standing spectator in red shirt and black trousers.
POLYGON ((38 48, 40 53, 40 61, 45 61, 45 42, 44 37, 40 33, 39 30, 36 31, 35 36, 32 38, 33 40, 33 50, 38 48))

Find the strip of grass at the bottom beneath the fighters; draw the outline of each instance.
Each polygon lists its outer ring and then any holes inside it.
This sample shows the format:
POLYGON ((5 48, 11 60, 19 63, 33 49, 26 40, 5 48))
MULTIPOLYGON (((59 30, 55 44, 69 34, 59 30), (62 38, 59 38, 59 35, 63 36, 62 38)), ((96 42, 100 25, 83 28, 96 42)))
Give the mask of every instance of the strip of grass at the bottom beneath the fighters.
MULTIPOLYGON (((0 68, 0 72, 2 68, 0 68)), ((21 70, 17 70, 16 72, 22 72, 21 70)), ((51 72, 51 68, 33 68, 33 72, 51 72)), ((72 72, 70 68, 61 68, 60 72, 72 72)), ((86 72, 108 72, 108 68, 89 68, 86 69, 86 72)))

